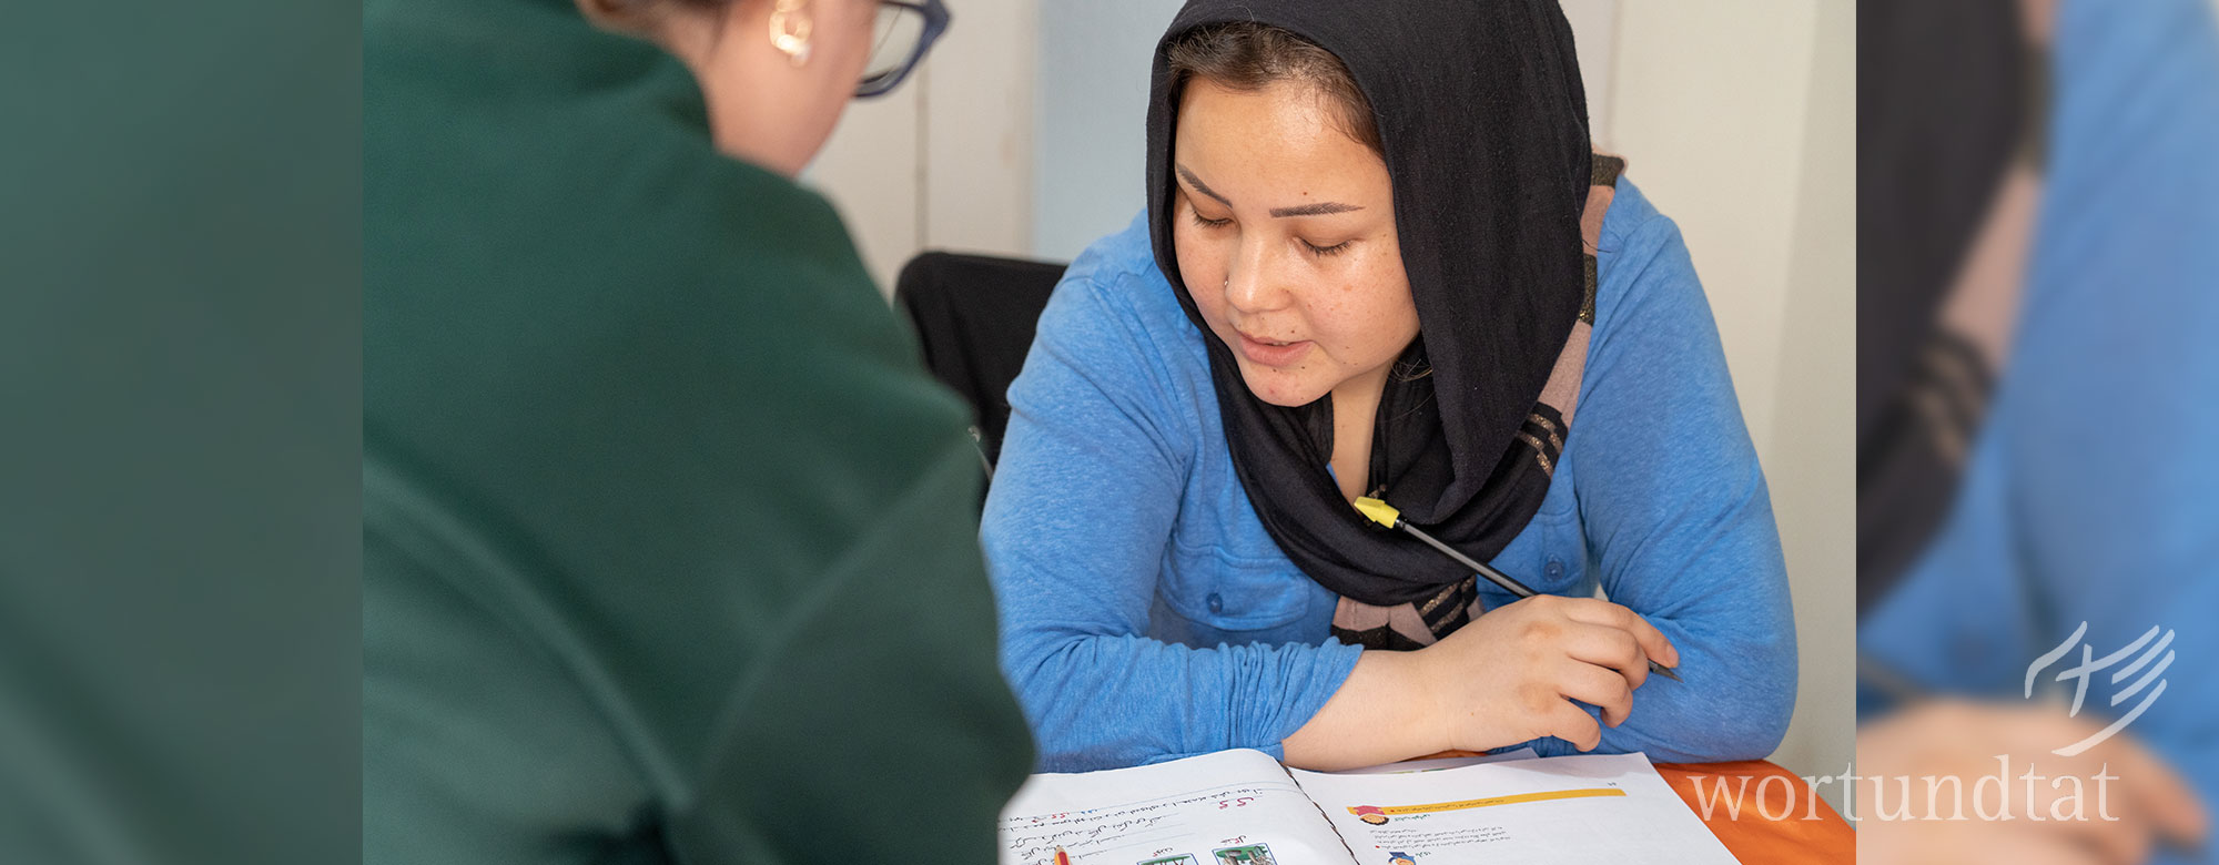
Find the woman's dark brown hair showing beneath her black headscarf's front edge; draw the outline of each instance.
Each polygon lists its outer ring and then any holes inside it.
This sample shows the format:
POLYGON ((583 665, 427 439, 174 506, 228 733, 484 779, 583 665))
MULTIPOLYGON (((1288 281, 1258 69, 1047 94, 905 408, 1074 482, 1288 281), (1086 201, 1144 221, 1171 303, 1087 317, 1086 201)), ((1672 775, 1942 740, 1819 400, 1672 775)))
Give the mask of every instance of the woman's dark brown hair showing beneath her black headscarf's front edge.
POLYGON ((1334 104, 1342 133, 1369 146, 1371 153, 1385 153, 1378 122, 1371 120, 1371 100, 1356 86, 1356 75, 1349 75, 1349 67, 1331 51, 1294 35, 1294 31, 1256 22, 1205 24, 1181 33, 1163 49, 1163 55, 1172 71, 1174 109, 1189 78, 1203 78, 1232 91, 1305 82, 1334 104))

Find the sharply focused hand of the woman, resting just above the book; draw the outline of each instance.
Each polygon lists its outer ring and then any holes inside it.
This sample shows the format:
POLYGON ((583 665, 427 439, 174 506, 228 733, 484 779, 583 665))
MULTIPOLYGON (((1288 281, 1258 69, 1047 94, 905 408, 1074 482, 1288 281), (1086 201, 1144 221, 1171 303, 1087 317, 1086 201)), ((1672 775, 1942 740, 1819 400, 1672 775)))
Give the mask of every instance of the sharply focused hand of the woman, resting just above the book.
POLYGON ((1433 683, 1429 714, 1447 747, 1482 752, 1556 736, 1587 752, 1602 743, 1602 727, 1573 701, 1600 708, 1615 727, 1649 681, 1649 659, 1671 668, 1680 650, 1618 603, 1536 594, 1489 610, 1414 659, 1433 683))

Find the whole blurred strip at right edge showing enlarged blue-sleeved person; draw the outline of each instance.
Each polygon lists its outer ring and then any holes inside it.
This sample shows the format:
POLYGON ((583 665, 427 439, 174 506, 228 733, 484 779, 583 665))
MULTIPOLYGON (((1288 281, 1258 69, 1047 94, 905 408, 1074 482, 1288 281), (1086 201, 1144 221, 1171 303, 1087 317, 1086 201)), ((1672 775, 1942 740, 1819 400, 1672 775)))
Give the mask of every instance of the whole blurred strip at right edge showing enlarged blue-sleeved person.
POLYGON ((1860 858, 2215 861, 2212 9, 1860 16, 1860 858), (2010 818, 1928 812, 1999 759, 2010 818))

